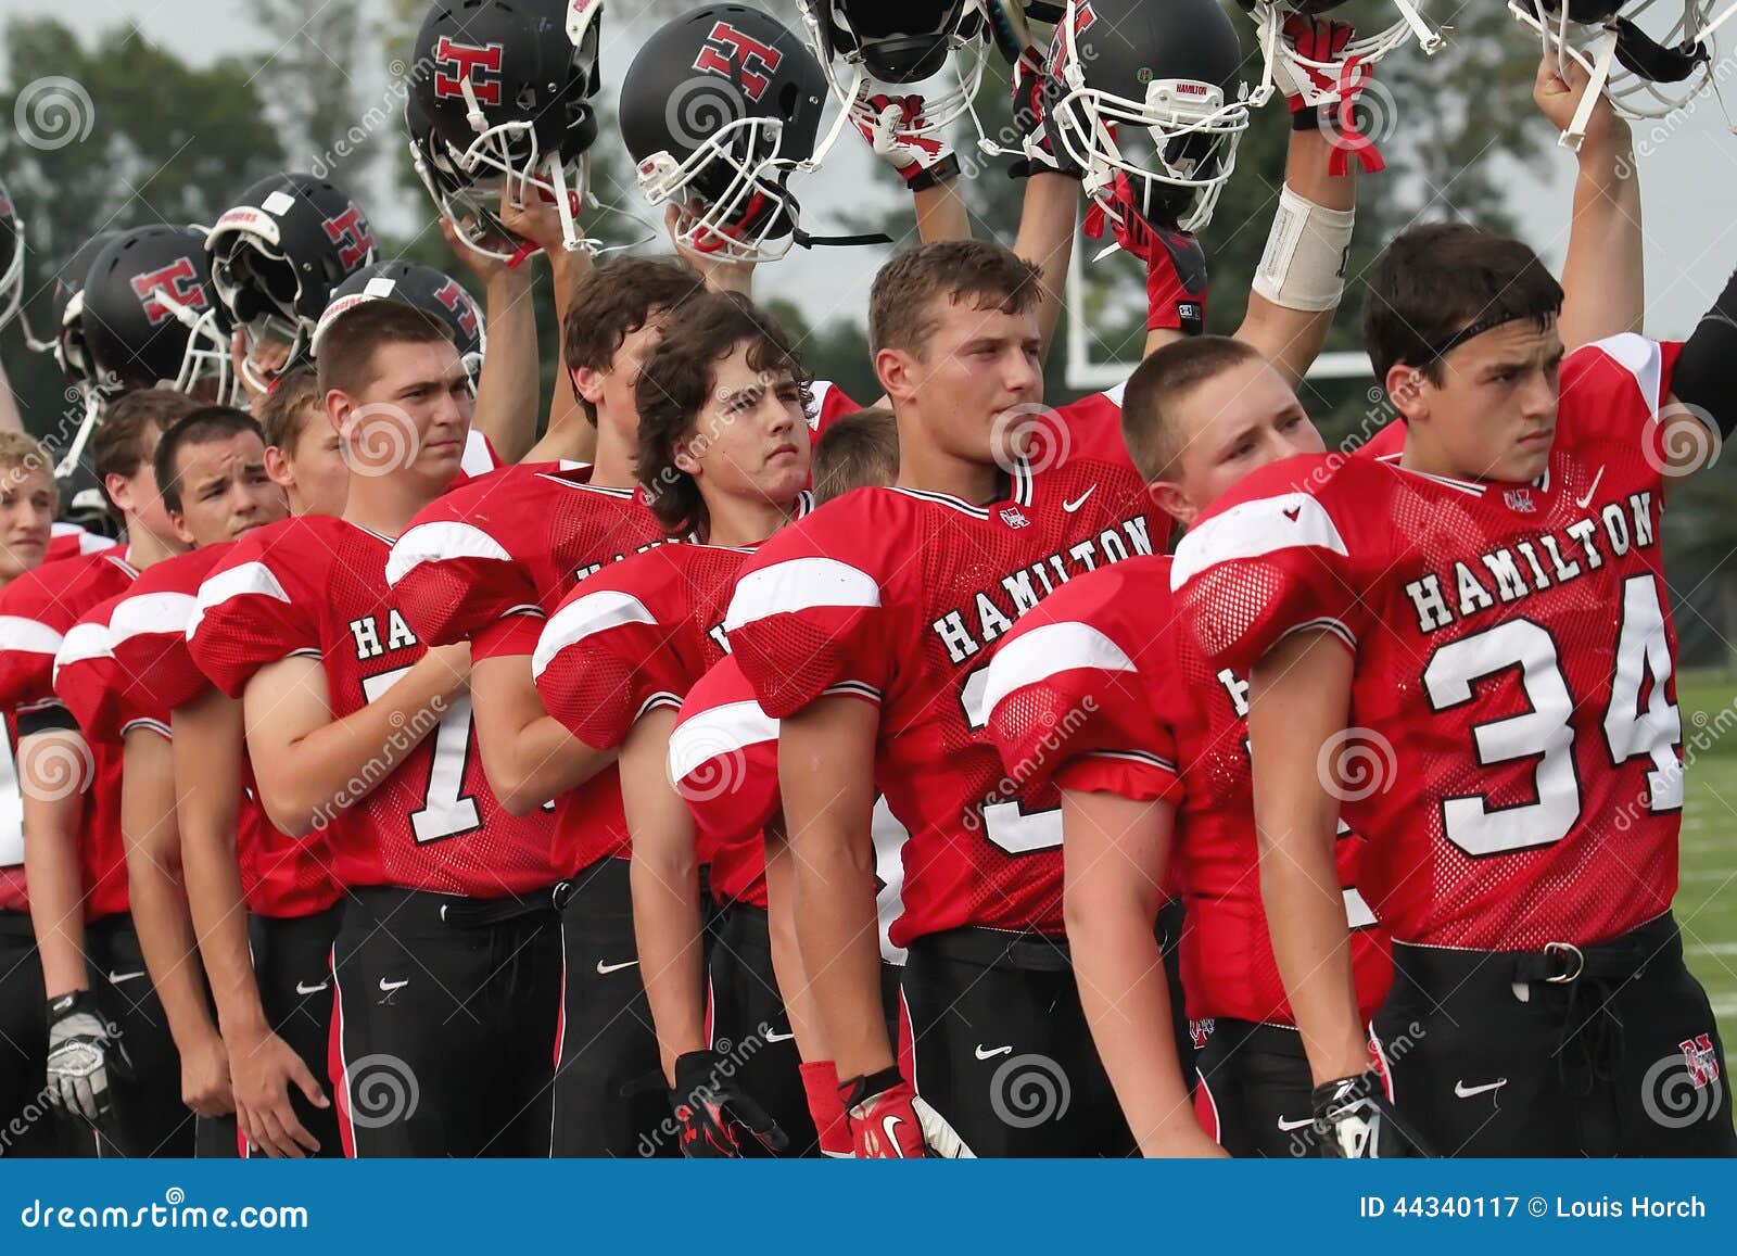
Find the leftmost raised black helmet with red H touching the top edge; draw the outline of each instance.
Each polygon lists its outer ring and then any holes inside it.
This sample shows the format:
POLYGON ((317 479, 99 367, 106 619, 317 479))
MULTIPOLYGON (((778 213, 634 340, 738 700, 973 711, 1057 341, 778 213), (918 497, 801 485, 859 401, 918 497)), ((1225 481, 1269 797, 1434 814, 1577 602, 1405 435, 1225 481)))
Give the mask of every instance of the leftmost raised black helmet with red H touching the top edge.
POLYGON ((516 255, 502 252, 518 238, 493 212, 502 186, 554 202, 566 247, 594 248, 573 215, 598 139, 601 40, 603 0, 436 0, 424 16, 405 111, 412 153, 478 252, 516 255))

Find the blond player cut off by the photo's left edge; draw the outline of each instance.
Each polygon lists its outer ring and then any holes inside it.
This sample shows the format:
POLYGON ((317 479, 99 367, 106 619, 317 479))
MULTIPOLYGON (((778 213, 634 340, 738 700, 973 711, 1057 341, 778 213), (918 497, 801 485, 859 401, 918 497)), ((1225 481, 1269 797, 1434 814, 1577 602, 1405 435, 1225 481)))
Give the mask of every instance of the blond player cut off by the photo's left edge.
MULTIPOLYGON (((17 431, 0 431, 0 589, 42 566, 59 500, 49 455, 17 431)), ((0 744, 0 1155, 90 1154, 45 1100, 49 1025, 42 961, 24 889, 24 796, 17 716, 5 711, 0 744)))

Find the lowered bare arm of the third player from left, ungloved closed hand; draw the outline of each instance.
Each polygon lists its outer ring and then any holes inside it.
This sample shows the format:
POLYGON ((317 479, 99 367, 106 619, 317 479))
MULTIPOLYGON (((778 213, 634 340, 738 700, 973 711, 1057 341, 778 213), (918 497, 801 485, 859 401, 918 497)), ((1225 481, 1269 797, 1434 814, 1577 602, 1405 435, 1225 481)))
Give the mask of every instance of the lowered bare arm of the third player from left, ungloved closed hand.
POLYGON ((151 985, 181 1054, 181 1100, 201 1117, 234 1112, 229 1060, 205 1006, 198 945, 175 823, 174 747, 162 733, 129 730, 122 749, 120 829, 127 895, 151 985))

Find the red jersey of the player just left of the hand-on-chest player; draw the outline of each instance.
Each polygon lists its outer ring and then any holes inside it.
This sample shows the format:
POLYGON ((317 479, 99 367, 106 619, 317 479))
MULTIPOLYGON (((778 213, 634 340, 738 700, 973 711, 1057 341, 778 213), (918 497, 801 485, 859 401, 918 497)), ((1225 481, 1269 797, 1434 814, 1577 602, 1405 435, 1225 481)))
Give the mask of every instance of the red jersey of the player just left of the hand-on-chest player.
MULTIPOLYGON (((188 648, 188 624, 205 577, 222 563, 234 542, 207 545, 146 570, 109 613, 108 648, 127 684, 130 719, 149 721, 165 733, 175 707, 210 690, 188 648)), ((271 823, 254 790, 252 770, 236 782, 236 856, 247 905, 261 916, 302 917, 337 902, 342 888, 332 874, 332 851, 323 830, 297 841, 271 823)))

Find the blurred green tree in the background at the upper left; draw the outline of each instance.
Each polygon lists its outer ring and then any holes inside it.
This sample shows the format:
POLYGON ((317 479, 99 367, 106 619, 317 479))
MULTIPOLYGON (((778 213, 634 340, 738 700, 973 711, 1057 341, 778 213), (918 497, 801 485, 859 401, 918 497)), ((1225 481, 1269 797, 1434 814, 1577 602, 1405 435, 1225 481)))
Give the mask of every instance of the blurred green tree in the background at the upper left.
MULTIPOLYGON (((148 222, 210 222, 240 181, 283 160, 254 66, 196 69, 130 26, 94 40, 52 17, 5 28, 0 170, 26 229, 24 301, 38 334, 63 261, 92 235, 148 222)), ((5 337, 24 424, 52 434, 71 408, 52 358, 5 337)))

